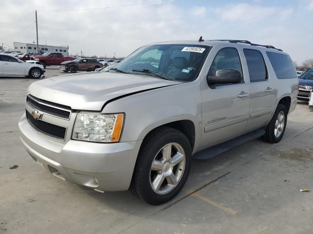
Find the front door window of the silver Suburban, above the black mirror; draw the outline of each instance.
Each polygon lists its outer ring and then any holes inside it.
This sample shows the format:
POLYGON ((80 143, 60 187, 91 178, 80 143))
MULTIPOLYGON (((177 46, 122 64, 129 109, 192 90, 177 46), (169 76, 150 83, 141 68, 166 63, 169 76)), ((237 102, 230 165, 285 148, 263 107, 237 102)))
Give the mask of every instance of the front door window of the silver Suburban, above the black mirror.
POLYGON ((233 69, 243 77, 243 71, 237 49, 226 47, 221 49, 215 56, 209 70, 209 75, 215 77, 217 70, 233 69))

